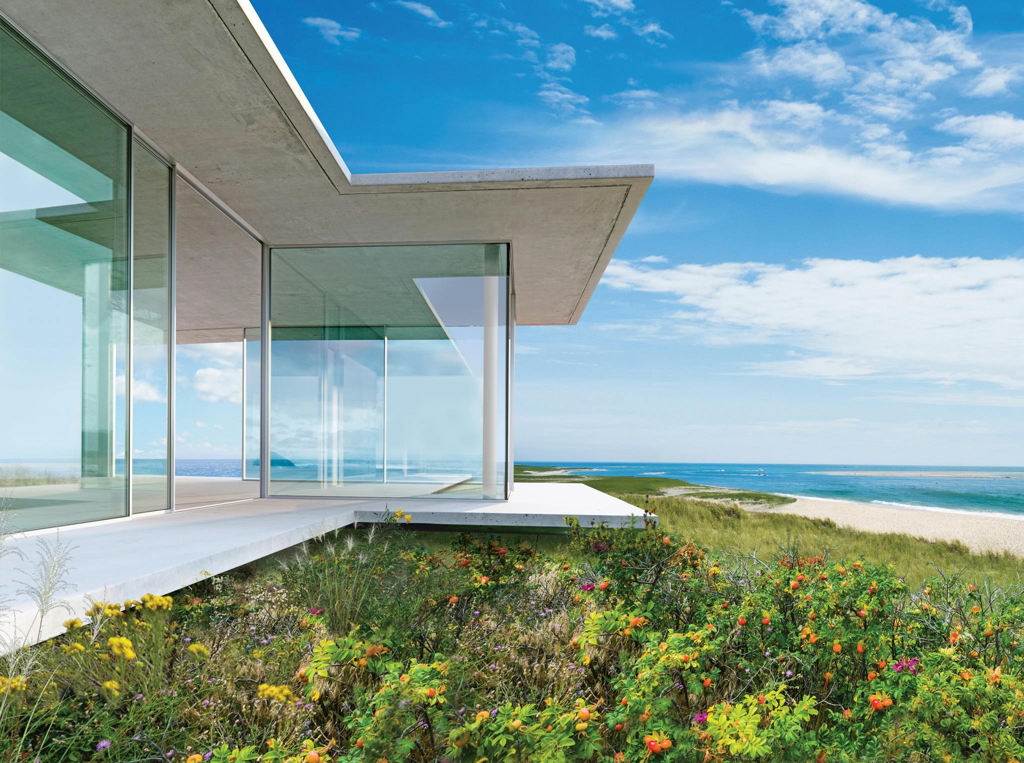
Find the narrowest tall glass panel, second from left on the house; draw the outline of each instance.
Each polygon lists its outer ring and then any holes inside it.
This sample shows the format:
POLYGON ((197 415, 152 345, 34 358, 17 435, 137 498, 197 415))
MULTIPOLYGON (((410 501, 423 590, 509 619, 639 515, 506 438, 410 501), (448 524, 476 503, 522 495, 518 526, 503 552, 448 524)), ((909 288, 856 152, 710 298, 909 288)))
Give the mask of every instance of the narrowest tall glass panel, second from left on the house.
POLYGON ((170 345, 171 171, 132 148, 132 512, 170 508, 167 349, 170 345))

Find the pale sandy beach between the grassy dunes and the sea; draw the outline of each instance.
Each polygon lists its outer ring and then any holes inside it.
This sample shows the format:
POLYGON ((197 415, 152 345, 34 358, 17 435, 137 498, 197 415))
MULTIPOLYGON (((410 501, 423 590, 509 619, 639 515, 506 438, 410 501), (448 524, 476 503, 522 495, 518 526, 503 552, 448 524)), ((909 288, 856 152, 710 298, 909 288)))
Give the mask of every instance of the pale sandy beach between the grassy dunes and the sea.
POLYGON ((929 540, 958 540, 973 551, 1010 551, 1024 556, 1024 517, 1017 520, 981 511, 901 508, 817 498, 798 498, 796 503, 748 509, 828 519, 854 530, 905 533, 929 540))

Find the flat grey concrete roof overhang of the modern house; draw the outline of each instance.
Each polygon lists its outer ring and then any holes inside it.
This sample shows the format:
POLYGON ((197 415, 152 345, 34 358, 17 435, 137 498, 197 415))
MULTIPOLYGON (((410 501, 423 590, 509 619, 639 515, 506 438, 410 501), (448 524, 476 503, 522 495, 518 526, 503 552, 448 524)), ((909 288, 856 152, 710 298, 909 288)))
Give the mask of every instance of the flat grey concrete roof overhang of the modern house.
MULTIPOLYGON (((270 245, 509 242, 520 324, 579 321, 653 177, 650 165, 352 174, 248 0, 0 8, 270 245)), ((179 241, 179 263, 239 250, 212 231, 206 254, 179 241)))

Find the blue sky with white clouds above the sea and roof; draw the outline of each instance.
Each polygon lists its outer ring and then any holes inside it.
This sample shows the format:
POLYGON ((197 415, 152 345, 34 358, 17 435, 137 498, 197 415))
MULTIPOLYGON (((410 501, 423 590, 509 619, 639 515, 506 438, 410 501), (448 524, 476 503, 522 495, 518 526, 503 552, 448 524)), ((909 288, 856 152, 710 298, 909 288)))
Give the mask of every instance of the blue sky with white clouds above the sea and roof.
POLYGON ((1015 0, 256 0, 352 172, 651 163, 522 460, 1024 464, 1015 0))

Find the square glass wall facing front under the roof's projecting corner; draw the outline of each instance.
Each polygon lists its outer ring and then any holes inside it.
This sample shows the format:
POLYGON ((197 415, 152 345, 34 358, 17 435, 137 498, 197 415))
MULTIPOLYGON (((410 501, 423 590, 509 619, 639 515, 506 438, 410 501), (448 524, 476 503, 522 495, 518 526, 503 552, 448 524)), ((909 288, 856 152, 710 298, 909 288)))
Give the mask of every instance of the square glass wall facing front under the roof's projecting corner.
POLYGON ((504 498, 505 244, 274 249, 270 492, 504 498))

